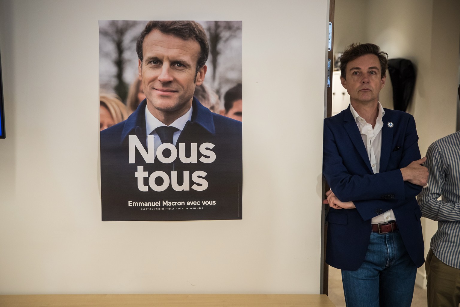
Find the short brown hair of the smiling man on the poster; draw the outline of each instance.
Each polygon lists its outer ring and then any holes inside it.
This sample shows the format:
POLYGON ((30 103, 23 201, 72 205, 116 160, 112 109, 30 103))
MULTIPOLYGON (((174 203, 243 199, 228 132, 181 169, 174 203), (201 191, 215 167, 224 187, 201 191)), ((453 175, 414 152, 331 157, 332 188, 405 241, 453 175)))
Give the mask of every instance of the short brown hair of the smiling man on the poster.
POLYGON ((201 24, 190 20, 149 21, 145 26, 145 29, 139 35, 138 41, 136 43, 136 52, 138 53, 138 58, 141 62, 144 61, 142 45, 144 44, 145 36, 147 36, 152 30, 155 29, 160 30, 163 34, 174 35, 185 41, 193 40, 200 44, 201 52, 196 63, 196 74, 201 69, 201 67, 206 64, 209 54, 209 45, 207 43, 206 32, 201 24))

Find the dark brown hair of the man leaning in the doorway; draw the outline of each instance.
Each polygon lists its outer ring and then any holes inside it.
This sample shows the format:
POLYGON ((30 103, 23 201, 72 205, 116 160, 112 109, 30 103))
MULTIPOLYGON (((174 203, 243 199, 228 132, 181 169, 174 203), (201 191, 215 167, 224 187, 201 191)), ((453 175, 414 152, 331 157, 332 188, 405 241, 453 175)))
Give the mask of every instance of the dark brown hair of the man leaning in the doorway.
POLYGON ((346 47, 345 52, 340 57, 340 76, 346 80, 346 64, 366 54, 375 54, 380 61, 380 74, 383 78, 388 67, 388 53, 380 51, 380 47, 375 44, 352 43, 346 47))

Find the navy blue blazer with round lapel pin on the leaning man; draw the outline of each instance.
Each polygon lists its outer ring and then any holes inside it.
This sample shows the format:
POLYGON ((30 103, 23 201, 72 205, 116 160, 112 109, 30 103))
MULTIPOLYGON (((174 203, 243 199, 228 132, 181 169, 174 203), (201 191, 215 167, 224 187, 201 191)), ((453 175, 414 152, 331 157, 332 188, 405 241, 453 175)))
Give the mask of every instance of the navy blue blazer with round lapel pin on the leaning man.
POLYGON ((371 219, 393 209, 404 245, 414 261, 424 262, 419 205, 422 187, 403 181, 400 168, 420 159, 414 117, 384 109, 380 173, 374 174, 350 107, 324 119, 323 174, 331 190, 356 209, 329 208, 326 262, 357 270, 366 255, 371 219))

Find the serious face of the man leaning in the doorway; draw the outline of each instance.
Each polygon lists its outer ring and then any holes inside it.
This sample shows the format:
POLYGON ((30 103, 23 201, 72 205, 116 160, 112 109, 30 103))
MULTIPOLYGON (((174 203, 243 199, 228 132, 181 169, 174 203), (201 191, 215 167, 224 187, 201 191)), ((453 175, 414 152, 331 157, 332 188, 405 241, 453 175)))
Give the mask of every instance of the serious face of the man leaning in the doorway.
POLYGON ((380 61, 375 54, 366 54, 346 64, 346 80, 340 77, 343 87, 350 94, 351 102, 366 104, 377 102, 385 85, 381 77, 380 61))

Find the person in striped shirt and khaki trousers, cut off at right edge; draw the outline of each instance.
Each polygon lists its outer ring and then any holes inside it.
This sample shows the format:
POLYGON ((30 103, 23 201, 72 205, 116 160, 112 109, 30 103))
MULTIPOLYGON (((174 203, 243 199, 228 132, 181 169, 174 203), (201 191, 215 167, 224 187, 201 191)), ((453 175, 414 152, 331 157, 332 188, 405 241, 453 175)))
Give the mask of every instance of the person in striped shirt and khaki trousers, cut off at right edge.
POLYGON ((460 304, 460 131, 428 147, 428 187, 418 198, 424 217, 438 221, 425 269, 429 307, 460 304), (439 197, 441 200, 438 200, 439 197))

